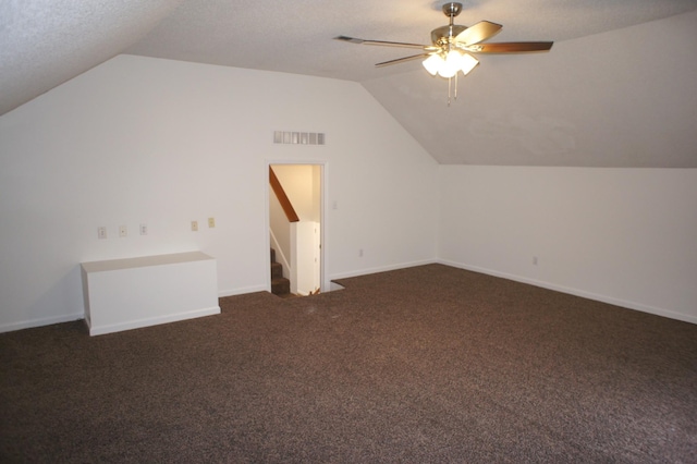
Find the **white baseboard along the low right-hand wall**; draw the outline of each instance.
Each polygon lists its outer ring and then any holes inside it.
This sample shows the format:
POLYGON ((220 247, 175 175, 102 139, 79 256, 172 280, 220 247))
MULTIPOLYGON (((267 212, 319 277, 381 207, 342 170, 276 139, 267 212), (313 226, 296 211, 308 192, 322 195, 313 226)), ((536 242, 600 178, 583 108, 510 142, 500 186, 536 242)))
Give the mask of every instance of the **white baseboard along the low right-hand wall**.
POLYGON ((588 300, 594 300, 601 303, 608 303, 610 305, 622 306, 627 309, 640 310, 643 313, 653 314, 657 316, 668 317, 670 319, 682 320, 684 322, 697 323, 697 317, 686 315, 682 313, 675 313, 665 308, 658 308, 653 306, 643 305, 640 303, 628 302, 625 300, 615 298, 607 295, 599 295, 584 290, 573 289, 564 285, 558 285, 551 282, 529 279, 526 277, 510 274, 506 272, 499 272, 492 269, 481 268, 478 266, 463 265, 461 262, 449 261, 445 259, 439 259, 437 262, 445 266, 452 266, 454 268, 470 270, 474 272, 486 273, 488 276, 500 277, 503 279, 514 280, 516 282, 528 283, 530 285, 540 286, 542 289, 554 290, 557 292, 567 293, 570 295, 580 296, 588 300))

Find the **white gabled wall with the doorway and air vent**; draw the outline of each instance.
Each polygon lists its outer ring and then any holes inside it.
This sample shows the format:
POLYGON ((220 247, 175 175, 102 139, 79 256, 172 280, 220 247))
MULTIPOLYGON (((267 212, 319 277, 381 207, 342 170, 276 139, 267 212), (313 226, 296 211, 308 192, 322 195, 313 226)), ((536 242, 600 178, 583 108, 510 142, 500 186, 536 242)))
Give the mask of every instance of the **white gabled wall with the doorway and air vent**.
POLYGON ((437 164, 358 84, 120 56, 0 117, 0 330, 81 318, 87 260, 200 249, 266 290, 268 159, 326 162, 327 278, 435 259, 437 164))

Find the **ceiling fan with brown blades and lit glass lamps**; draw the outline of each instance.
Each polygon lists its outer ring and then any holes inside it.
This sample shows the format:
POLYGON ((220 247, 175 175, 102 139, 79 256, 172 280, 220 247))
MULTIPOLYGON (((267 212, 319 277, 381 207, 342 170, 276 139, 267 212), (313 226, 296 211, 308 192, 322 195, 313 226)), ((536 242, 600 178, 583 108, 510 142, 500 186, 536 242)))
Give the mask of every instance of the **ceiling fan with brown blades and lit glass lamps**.
POLYGON ((386 47, 414 48, 421 50, 418 54, 398 58, 395 60, 377 63, 376 66, 404 63, 424 58, 424 68, 431 75, 439 75, 448 80, 448 105, 450 106, 451 80, 455 78, 455 99, 457 99, 457 72, 467 75, 479 61, 472 53, 525 53, 548 51, 552 41, 509 41, 484 42, 501 32, 501 24, 489 21, 467 27, 455 24, 455 16, 462 12, 462 3, 450 2, 443 4, 443 14, 450 17, 450 24, 431 30, 432 45, 408 44, 401 41, 366 40, 355 37, 338 36, 337 40, 351 44, 377 45, 386 47))

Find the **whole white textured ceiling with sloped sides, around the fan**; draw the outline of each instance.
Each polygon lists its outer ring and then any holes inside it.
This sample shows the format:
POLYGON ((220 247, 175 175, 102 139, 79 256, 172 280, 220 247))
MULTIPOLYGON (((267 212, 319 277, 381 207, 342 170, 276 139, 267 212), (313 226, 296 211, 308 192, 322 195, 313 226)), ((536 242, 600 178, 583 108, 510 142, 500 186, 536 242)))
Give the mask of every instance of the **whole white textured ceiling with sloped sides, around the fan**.
POLYGON ((132 53, 359 82, 441 163, 697 168, 697 88, 685 84, 697 82, 697 15, 682 15, 697 11, 696 0, 464 0, 457 24, 489 20, 504 26, 496 40, 555 45, 550 53, 480 58, 450 107, 448 83, 418 61, 372 65, 413 50, 332 40, 427 44, 448 22, 443 3, 3 2, 0 114, 132 53), (668 32, 656 23, 678 14, 668 32), (662 66, 682 76, 677 91, 657 89, 662 66))

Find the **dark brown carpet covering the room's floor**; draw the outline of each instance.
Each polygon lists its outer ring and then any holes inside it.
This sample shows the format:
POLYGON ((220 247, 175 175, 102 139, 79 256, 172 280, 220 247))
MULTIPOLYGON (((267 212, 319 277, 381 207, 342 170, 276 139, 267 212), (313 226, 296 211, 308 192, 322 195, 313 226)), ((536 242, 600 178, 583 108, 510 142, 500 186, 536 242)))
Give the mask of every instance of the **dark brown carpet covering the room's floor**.
POLYGON ((697 326, 440 265, 0 334, 1 462, 697 462, 697 326))

